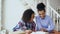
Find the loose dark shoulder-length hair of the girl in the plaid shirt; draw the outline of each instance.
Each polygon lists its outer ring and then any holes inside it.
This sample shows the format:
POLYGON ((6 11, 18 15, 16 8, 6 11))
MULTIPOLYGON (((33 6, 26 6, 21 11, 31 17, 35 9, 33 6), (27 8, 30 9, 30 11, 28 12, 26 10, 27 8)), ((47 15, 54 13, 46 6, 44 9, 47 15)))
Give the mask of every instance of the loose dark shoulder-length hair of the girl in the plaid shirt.
POLYGON ((34 14, 34 11, 32 9, 25 10, 22 16, 22 20, 24 22, 28 22, 31 19, 32 14, 34 14))

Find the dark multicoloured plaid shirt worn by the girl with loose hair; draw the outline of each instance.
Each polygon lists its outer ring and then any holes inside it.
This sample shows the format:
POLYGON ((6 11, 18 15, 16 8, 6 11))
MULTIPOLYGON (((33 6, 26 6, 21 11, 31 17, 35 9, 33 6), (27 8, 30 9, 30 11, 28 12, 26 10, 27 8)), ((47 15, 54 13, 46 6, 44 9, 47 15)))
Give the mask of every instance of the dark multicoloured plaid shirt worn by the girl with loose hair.
POLYGON ((35 31, 35 26, 36 24, 33 22, 27 22, 25 23, 24 21, 19 21, 18 24, 13 28, 13 31, 17 30, 32 30, 35 31))

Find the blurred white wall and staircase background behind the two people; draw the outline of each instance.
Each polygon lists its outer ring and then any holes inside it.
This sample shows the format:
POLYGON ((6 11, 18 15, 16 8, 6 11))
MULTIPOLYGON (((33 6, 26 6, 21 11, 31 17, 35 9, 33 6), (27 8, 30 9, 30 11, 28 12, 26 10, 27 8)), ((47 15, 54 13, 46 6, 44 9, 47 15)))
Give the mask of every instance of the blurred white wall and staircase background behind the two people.
POLYGON ((46 5, 46 14, 53 19, 55 30, 60 31, 60 0, 0 0, 0 31, 12 31, 28 8, 37 15, 36 5, 40 2, 46 5))

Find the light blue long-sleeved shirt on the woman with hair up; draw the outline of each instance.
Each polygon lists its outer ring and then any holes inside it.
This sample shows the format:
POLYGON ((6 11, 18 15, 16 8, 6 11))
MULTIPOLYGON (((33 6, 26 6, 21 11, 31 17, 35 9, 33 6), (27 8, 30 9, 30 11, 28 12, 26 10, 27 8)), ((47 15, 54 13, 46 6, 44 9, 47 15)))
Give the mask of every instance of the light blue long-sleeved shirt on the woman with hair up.
POLYGON ((41 28, 45 28, 47 31, 54 30, 53 20, 47 15, 44 19, 42 19, 40 16, 36 16, 36 24, 37 30, 40 30, 41 28))

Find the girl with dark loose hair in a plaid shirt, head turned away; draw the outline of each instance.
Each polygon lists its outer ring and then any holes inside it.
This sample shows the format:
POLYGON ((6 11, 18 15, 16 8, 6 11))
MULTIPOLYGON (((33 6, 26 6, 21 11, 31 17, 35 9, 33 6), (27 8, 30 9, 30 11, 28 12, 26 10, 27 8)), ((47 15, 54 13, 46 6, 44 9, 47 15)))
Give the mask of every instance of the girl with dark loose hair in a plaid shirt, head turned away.
POLYGON ((26 33, 31 33, 35 31, 36 24, 33 21, 34 19, 34 11, 32 9, 27 9, 22 16, 22 19, 19 23, 13 28, 13 31, 17 31, 19 29, 25 31, 26 33))

